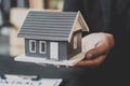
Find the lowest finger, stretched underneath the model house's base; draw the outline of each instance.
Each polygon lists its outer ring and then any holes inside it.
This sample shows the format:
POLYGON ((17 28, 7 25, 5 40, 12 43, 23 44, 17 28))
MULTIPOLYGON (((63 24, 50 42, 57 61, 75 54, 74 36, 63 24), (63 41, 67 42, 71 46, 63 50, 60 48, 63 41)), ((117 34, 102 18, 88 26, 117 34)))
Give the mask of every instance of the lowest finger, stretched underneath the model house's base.
POLYGON ((106 57, 105 55, 102 55, 102 56, 100 56, 95 59, 92 59, 92 60, 81 60, 76 66, 98 67, 104 61, 105 57, 106 57))

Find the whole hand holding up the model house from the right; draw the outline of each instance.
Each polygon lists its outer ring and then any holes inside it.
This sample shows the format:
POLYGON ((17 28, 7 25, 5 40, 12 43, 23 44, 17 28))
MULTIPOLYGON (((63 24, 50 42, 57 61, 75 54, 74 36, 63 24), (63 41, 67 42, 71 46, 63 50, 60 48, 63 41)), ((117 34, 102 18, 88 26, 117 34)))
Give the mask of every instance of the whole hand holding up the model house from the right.
POLYGON ((110 33, 96 32, 82 39, 82 52, 87 53, 83 60, 76 66, 99 67, 114 47, 114 37, 110 33))

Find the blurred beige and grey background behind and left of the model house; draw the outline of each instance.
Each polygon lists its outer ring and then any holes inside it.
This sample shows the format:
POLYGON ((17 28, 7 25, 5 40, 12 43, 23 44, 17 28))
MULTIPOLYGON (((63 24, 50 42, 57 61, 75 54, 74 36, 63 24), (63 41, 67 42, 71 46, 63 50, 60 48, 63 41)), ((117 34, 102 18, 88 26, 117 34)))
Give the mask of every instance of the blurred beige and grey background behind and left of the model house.
POLYGON ((62 11, 64 0, 0 0, 0 57, 24 53, 24 39, 17 38, 28 10, 62 11))

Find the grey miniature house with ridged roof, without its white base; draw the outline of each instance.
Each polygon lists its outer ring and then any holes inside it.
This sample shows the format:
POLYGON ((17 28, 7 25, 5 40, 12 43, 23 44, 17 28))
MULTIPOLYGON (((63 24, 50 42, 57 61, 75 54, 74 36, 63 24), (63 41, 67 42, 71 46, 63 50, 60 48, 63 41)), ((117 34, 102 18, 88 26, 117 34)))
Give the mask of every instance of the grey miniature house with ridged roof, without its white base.
POLYGON ((66 60, 81 53, 81 31, 89 31, 80 12, 29 11, 17 34, 25 55, 66 60))

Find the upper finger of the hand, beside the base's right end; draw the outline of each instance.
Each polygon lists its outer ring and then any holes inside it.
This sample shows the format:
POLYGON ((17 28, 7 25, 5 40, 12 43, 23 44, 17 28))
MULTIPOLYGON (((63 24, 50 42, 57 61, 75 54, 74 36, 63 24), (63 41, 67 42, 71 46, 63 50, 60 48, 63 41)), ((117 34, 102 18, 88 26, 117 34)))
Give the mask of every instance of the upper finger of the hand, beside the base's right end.
POLYGON ((90 49, 89 52, 87 52, 86 54, 86 59, 93 59, 95 57, 105 55, 108 53, 108 45, 105 42, 100 42, 95 45, 94 48, 90 49))

